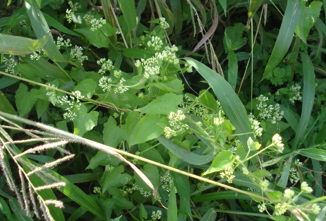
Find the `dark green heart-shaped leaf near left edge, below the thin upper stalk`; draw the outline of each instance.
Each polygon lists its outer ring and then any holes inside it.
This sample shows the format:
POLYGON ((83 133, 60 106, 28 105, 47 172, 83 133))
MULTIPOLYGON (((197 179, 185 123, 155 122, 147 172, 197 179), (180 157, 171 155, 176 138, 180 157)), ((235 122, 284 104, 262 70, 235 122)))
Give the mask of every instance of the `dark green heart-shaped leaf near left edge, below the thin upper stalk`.
POLYGON ((16 92, 16 107, 20 116, 25 116, 30 113, 33 108, 36 98, 34 95, 37 93, 36 89, 32 89, 30 92, 28 91, 28 87, 24 84, 19 84, 19 88, 16 92))

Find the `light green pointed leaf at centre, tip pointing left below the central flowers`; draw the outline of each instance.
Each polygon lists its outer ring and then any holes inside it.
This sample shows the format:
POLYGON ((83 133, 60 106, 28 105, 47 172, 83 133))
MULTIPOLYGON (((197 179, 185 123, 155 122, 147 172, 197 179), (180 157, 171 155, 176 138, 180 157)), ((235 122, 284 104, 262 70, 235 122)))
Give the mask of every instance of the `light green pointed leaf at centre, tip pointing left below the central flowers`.
POLYGON ((177 112, 177 106, 182 102, 182 95, 165 94, 162 95, 144 107, 135 109, 135 111, 145 114, 165 114, 169 115, 170 112, 177 112))

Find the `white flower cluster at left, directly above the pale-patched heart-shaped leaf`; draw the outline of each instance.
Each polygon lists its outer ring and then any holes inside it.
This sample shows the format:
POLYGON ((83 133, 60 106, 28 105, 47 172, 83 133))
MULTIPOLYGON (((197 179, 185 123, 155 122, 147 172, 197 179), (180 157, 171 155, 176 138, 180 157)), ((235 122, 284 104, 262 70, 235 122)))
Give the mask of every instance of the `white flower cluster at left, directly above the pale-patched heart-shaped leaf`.
POLYGON ((74 120, 75 117, 77 116, 75 113, 75 110, 79 110, 80 106, 82 105, 82 103, 79 102, 79 99, 83 99, 84 96, 82 96, 82 94, 80 94, 80 91, 74 91, 72 92, 73 96, 70 95, 70 99, 68 100, 68 96, 62 96, 59 100, 59 103, 61 105, 64 104, 68 104, 68 107, 65 109, 67 110, 66 113, 63 114, 63 117, 65 119, 70 119, 70 120, 74 120), (75 100, 76 98, 76 100, 75 100))

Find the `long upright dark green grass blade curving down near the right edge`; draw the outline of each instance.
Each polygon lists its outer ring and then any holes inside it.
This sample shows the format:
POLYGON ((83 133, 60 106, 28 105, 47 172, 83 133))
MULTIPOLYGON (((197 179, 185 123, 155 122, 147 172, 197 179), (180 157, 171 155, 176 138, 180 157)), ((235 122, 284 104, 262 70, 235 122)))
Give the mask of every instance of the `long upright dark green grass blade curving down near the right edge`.
POLYGON ((302 142, 304 134, 309 123, 311 116, 311 110, 314 103, 315 97, 315 72, 312 62, 307 53, 300 52, 301 59, 303 62, 304 72, 304 94, 302 99, 302 112, 299 125, 296 130, 292 150, 297 149, 298 144, 302 142))

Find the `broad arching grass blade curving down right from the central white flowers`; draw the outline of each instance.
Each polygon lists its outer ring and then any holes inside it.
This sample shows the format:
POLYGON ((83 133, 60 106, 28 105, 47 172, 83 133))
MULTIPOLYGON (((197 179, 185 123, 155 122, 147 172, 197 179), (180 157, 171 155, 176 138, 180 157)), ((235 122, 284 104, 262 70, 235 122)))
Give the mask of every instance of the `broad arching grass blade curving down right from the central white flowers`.
POLYGON ((224 113, 235 127, 236 133, 247 133, 239 135, 239 140, 243 147, 248 150, 247 140, 250 136, 253 138, 253 134, 248 133, 251 133, 252 129, 246 109, 244 109, 243 104, 232 87, 221 75, 208 68, 206 65, 191 58, 185 58, 185 60, 193 65, 193 67, 207 80, 220 101, 224 113))

